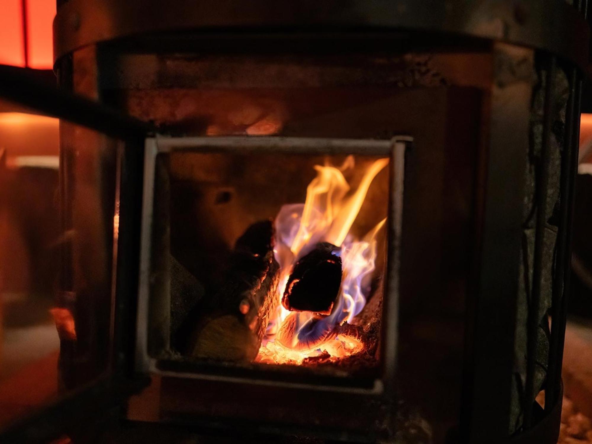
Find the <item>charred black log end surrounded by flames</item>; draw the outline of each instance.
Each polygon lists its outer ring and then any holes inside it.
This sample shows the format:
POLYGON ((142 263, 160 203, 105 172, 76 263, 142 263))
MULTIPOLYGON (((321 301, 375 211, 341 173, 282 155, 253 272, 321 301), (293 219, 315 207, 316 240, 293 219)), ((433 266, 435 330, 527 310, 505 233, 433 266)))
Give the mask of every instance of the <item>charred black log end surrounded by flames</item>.
POLYGON ((295 263, 282 297, 287 310, 331 314, 342 278, 341 258, 333 254, 337 249, 328 242, 318 243, 295 263))

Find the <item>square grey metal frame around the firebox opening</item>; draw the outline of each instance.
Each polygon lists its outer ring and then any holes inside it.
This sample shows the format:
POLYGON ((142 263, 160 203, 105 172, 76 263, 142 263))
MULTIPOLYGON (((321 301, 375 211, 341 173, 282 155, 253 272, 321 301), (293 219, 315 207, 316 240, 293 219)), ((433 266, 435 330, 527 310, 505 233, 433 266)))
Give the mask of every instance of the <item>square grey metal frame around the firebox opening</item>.
MULTIPOLYGON (((137 302, 136 324, 136 361, 134 368, 142 374, 157 374, 167 377, 204 379, 223 381, 229 384, 263 384, 276 387, 307 388, 323 391, 365 392, 372 395, 392 395, 394 390, 395 359, 397 348, 397 316, 398 316, 398 274, 401 227, 403 219, 403 182, 404 161, 407 148, 413 143, 410 136, 395 136, 390 140, 358 140, 358 139, 316 139, 308 137, 277 137, 277 136, 222 136, 222 137, 152 137, 146 139, 144 158, 144 193, 141 226, 141 252, 139 292, 137 302), (387 290, 383 310, 383 333, 381 340, 382 368, 381 377, 375 379, 371 387, 345 387, 327 384, 326 380, 319 384, 310 381, 269 381, 266 379, 245 378, 240 375, 219 375, 213 371, 171 371, 162 368, 161 359, 149 356, 148 332, 150 326, 150 266, 152 248, 152 217, 155 198, 156 157, 160 153, 173 150, 193 150, 201 153, 287 153, 314 155, 380 155, 390 157, 390 192, 388 201, 388 258, 387 258, 387 290)), ((165 306, 166 304, 163 304, 165 306)), ((170 306, 170 301, 169 301, 170 306)), ((165 333, 166 335, 166 333, 165 333)), ((166 342, 166 339, 164 340, 166 342)))

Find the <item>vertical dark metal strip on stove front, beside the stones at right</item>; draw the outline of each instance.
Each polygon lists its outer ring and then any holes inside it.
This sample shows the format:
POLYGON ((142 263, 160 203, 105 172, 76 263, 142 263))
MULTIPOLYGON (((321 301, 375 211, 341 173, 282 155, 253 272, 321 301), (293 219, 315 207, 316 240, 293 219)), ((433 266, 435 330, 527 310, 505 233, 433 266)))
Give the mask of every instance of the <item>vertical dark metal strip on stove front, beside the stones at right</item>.
MULTIPOLYGON (((476 297, 468 301, 461 439, 499 443, 508 436, 520 229, 532 86, 532 53, 498 44, 476 297), (529 66, 530 69, 515 69, 529 66), (500 180, 500 178, 504 178, 500 180)), ((479 219, 478 219, 479 220, 479 219)))

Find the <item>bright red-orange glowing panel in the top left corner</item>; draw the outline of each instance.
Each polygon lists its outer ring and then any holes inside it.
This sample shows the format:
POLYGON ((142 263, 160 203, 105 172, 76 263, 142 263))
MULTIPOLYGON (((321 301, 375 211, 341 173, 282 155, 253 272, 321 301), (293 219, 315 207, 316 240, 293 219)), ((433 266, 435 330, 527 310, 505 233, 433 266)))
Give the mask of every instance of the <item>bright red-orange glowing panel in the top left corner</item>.
POLYGON ((0 64, 52 69, 56 0, 1 0, 0 8, 0 64), (27 11, 26 40, 23 9, 27 11))

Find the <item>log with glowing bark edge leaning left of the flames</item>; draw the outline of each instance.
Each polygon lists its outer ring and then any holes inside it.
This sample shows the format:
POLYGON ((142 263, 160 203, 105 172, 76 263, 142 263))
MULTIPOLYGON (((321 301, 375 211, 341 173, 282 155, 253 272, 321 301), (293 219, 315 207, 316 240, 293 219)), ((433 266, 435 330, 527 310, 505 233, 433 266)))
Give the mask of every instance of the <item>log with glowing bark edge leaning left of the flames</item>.
POLYGON ((234 246, 226 284, 205 301, 188 354, 224 361, 255 359, 275 314, 278 281, 273 224, 255 223, 234 246))

